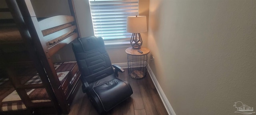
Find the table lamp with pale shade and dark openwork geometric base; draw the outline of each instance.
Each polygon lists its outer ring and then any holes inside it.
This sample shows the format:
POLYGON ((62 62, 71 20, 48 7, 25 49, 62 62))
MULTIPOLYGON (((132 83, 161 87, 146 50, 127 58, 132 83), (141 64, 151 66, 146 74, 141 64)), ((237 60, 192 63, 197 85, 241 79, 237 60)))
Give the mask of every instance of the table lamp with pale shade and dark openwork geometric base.
POLYGON ((133 49, 140 49, 142 38, 140 33, 147 32, 146 16, 128 16, 126 32, 132 33, 130 43, 133 49))

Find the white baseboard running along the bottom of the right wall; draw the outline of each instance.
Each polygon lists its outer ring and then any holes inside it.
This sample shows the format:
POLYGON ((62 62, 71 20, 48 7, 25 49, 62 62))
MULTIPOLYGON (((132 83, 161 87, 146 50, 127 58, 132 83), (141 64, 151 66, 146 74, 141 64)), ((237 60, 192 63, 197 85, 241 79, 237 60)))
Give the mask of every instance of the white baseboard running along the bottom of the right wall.
POLYGON ((164 91, 162 90, 160 84, 158 83, 156 76, 154 75, 152 69, 150 68, 150 66, 148 65, 148 73, 156 87, 156 90, 160 96, 160 98, 162 99, 162 102, 164 103, 164 107, 167 110, 169 115, 176 115, 174 110, 172 109, 172 106, 170 104, 170 102, 168 101, 166 95, 164 94, 164 91))

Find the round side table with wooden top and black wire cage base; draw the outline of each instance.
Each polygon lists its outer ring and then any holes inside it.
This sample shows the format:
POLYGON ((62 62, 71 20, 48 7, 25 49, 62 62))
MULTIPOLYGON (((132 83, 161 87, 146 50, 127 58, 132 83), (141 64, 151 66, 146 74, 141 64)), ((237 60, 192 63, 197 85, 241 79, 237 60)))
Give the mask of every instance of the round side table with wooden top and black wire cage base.
POLYGON ((128 61, 128 73, 129 76, 134 79, 141 79, 147 75, 148 72, 148 54, 150 50, 148 48, 132 49, 132 47, 125 50, 128 61))

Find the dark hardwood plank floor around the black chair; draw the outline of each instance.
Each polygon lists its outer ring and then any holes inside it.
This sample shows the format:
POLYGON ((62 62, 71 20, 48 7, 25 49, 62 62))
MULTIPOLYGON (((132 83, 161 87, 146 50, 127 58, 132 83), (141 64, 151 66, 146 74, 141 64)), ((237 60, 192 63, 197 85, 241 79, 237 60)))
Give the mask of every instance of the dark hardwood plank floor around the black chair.
MULTIPOLYGON (((128 75, 128 69, 124 73, 118 73, 119 78, 128 81, 132 87, 131 97, 102 115, 168 115, 156 87, 147 74, 143 79, 132 79, 128 75)), ((82 89, 71 105, 68 115, 99 115, 82 89)))

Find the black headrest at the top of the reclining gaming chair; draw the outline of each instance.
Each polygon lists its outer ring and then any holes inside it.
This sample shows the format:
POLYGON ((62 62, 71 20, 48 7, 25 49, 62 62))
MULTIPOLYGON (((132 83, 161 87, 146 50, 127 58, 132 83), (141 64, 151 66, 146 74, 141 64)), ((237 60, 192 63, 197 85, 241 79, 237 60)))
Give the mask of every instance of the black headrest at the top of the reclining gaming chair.
POLYGON ((79 38, 78 41, 80 41, 82 44, 84 52, 105 47, 104 41, 101 37, 89 36, 85 38, 79 38))

